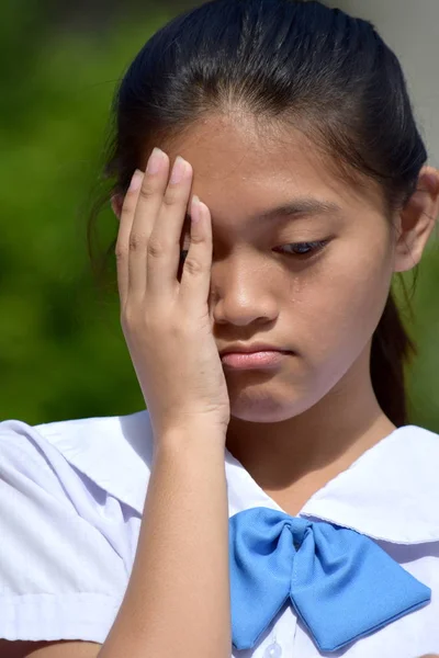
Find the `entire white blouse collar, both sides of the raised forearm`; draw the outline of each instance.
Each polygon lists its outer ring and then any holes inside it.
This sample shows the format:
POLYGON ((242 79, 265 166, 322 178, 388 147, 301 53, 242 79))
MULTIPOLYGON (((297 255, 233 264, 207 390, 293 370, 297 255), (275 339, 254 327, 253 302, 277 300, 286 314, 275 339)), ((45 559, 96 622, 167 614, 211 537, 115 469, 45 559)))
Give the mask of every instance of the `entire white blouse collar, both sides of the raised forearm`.
MULTIPOLYGON (((147 410, 36 426, 78 470, 142 515, 153 461, 147 410)), ((439 436, 397 428, 329 480, 297 515, 397 544, 439 542, 439 436)), ((229 515, 282 508, 225 449, 229 515)))

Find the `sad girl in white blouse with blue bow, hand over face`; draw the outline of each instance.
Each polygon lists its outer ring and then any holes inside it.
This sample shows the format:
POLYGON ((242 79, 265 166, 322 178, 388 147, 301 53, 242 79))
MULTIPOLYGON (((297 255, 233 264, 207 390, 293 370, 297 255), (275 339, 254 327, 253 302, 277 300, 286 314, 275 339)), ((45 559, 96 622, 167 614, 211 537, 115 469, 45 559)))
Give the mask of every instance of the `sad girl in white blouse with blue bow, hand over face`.
POLYGON ((439 172, 395 55, 320 2, 214 0, 115 113, 147 410, 0 424, 1 657, 439 651, 439 440, 391 290, 439 172))

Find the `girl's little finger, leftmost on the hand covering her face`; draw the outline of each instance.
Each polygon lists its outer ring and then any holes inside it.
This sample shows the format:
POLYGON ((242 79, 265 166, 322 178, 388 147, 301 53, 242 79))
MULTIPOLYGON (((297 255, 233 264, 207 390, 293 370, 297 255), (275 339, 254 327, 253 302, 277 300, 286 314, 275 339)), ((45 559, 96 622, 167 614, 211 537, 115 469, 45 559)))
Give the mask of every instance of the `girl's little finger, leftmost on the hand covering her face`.
POLYGON ((130 235, 143 178, 144 172, 139 169, 136 169, 122 204, 121 218, 119 224, 115 256, 117 265, 119 296, 121 298, 122 305, 125 304, 128 294, 130 235))

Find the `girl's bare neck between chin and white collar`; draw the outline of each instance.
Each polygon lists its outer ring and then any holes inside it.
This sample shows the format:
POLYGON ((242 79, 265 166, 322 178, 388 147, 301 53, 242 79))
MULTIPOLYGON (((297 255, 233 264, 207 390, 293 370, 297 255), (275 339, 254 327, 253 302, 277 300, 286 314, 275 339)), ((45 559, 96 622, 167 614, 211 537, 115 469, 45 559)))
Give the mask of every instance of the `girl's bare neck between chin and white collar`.
POLYGON ((315 491, 395 429, 378 404, 365 353, 324 398, 293 418, 252 423, 232 417, 226 445, 295 515, 315 491))

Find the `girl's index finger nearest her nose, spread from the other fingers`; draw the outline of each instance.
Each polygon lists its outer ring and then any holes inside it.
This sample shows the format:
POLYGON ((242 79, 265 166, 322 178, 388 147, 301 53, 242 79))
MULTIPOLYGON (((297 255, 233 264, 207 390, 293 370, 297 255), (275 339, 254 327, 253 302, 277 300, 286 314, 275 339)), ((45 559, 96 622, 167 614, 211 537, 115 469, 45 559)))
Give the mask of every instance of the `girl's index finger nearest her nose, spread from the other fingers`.
POLYGON ((191 205, 191 243, 184 261, 180 296, 188 313, 200 313, 209 302, 212 272, 212 218, 198 196, 191 205), (198 203, 199 202, 199 203, 198 203))

